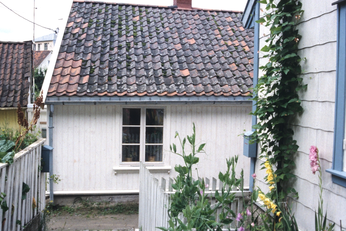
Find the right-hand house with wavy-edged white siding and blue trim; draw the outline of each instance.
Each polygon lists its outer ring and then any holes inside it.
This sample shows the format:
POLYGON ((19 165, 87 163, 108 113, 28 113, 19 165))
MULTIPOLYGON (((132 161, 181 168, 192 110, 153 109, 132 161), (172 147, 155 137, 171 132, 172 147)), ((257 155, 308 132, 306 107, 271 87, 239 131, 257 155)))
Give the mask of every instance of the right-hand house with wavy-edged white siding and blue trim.
MULTIPOLYGON (((296 179, 292 186, 300 195, 298 199, 291 199, 292 211, 301 230, 315 230, 315 210, 318 209, 318 176, 312 174, 309 164, 311 145, 319 148, 327 219, 336 223, 335 230, 340 229, 340 220, 343 229, 346 228, 346 1, 334 1, 301 0, 304 12, 297 25, 302 36, 298 44, 299 55, 306 57, 306 61, 301 61, 304 70, 302 84, 308 84, 307 90, 299 93, 303 112, 291 122, 293 138, 299 145, 293 171, 296 179)), ((254 22, 265 15, 265 11, 260 12, 261 8, 266 7, 256 0, 248 0, 243 16, 244 25, 255 29, 255 53, 258 46, 261 49, 265 45, 265 35, 270 33, 268 28, 254 22)), ((260 52, 260 65, 268 61, 263 55, 260 52)), ((256 58, 254 62, 257 63, 256 58)), ((256 81, 258 67, 254 68, 256 81)), ((262 161, 256 161, 256 185, 266 189, 265 171, 260 166, 262 161)))

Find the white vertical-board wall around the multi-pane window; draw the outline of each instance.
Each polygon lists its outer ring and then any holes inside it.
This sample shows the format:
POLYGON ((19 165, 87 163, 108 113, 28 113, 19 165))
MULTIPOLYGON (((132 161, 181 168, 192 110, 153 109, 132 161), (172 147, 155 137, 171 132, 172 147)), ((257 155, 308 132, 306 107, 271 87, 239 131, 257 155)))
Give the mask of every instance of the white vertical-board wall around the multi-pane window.
MULTIPOLYGON (((199 156, 200 177, 217 178, 219 171, 226 170, 226 158, 234 155, 239 155, 238 172, 243 168, 247 173, 249 159, 243 156, 243 137, 239 136, 251 129, 251 107, 247 105, 164 105, 163 162, 172 171, 154 175, 175 176, 175 164, 183 162, 169 152, 169 146, 174 142, 179 150, 175 131, 181 137, 191 135, 192 122, 197 142, 207 143, 206 154, 199 156)), ((54 105, 53 166, 54 174, 62 179, 54 184, 54 191, 139 189, 138 173, 113 172, 121 161, 121 111, 122 106, 115 105, 54 105)))

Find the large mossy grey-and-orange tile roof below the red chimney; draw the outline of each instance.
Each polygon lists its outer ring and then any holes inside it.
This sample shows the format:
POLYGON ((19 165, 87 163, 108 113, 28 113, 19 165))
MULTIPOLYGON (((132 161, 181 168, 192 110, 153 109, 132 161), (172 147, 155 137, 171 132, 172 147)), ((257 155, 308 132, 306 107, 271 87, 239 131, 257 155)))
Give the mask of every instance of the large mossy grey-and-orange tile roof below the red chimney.
POLYGON ((47 96, 246 96, 254 34, 240 17, 74 1, 47 96))

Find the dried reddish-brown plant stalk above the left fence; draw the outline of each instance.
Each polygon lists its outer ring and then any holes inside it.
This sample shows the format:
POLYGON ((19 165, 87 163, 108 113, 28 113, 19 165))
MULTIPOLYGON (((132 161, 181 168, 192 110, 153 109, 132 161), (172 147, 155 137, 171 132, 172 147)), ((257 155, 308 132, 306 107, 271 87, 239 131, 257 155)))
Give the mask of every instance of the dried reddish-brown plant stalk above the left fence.
POLYGON ((43 106, 43 91, 41 92, 40 96, 36 98, 34 105, 33 105, 33 112, 34 116, 33 119, 31 119, 30 124, 28 123, 27 119, 24 116, 24 113, 18 104, 17 108, 17 115, 18 115, 18 124, 19 124, 19 136, 15 143, 15 152, 17 152, 20 148, 20 145, 23 142, 23 139, 25 135, 29 131, 33 131, 33 126, 36 125, 38 118, 40 117, 40 107, 43 106), (23 127, 23 129, 21 129, 23 127))

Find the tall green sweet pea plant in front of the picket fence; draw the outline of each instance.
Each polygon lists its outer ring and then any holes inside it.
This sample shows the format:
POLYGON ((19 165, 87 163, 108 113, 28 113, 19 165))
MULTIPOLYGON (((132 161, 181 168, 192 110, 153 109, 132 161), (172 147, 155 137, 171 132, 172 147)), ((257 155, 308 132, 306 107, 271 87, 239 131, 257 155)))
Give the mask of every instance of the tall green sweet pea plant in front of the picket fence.
MULTIPOLYGON (((191 151, 185 151, 186 138, 181 140, 179 133, 176 132, 175 137, 179 138, 180 145, 182 147, 182 153, 177 153, 176 145, 171 146, 171 151, 177 155, 180 155, 184 159, 184 166, 176 165, 175 171, 179 175, 174 179, 172 187, 176 192, 171 194, 170 206, 169 206, 169 228, 158 227, 165 231, 181 231, 191 230, 193 228, 205 231, 215 230, 221 231, 222 228, 230 230, 230 224, 236 219, 240 221, 238 216, 230 209, 230 204, 235 200, 235 193, 231 190, 234 187, 243 188, 243 172, 239 178, 236 177, 235 167, 238 162, 238 156, 234 156, 226 160, 227 171, 226 173, 219 173, 220 181, 224 182, 222 189, 215 192, 215 199, 218 201, 213 208, 210 205, 210 199, 206 194, 206 189, 209 185, 206 185, 204 180, 193 181, 192 179, 192 167, 199 161, 199 153, 204 153, 203 147, 205 144, 199 145, 195 142, 195 125, 193 124, 193 134, 187 136, 187 140, 190 143, 191 151), (217 210, 220 209, 219 222, 216 222, 217 210), (179 215, 182 213, 186 222, 179 219, 179 215)), ((195 176, 196 177, 196 176, 195 176)), ((198 179, 198 172, 197 177, 198 179)), ((209 189, 207 190, 209 191, 209 189)))

